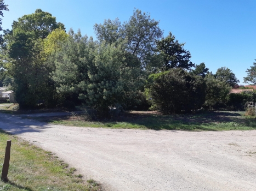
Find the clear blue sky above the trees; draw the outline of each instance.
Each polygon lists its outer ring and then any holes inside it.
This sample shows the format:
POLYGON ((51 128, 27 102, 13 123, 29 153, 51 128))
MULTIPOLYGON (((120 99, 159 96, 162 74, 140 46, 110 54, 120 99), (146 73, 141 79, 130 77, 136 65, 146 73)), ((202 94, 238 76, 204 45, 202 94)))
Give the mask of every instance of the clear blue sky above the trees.
POLYGON ((134 8, 148 12, 160 21, 164 35, 171 31, 185 49, 191 61, 204 62, 210 71, 230 68, 243 83, 246 69, 256 59, 256 0, 5 0, 3 29, 12 22, 40 8, 64 23, 67 31, 81 29, 82 34, 95 37, 93 25, 104 19, 118 17, 127 21, 134 8))

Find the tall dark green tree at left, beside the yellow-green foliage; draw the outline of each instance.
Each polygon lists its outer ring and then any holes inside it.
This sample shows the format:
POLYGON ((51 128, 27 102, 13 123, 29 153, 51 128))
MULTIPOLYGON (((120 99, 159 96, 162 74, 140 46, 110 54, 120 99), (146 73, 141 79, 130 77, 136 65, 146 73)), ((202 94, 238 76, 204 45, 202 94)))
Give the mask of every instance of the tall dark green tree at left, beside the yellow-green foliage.
POLYGON ((5 68, 14 78, 13 90, 21 108, 31 108, 48 97, 49 68, 42 62, 42 40, 56 28, 64 28, 52 14, 37 9, 13 22, 5 31, 5 68))

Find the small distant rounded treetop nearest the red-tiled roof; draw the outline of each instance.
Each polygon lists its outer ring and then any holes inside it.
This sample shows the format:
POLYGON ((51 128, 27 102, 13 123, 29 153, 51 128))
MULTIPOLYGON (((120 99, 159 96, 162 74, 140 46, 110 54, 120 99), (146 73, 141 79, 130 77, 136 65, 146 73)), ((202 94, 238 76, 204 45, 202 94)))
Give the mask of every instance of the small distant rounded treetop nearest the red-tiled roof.
POLYGON ((229 68, 221 67, 216 71, 216 79, 226 82, 229 86, 234 87, 237 85, 239 80, 236 78, 235 74, 229 68))

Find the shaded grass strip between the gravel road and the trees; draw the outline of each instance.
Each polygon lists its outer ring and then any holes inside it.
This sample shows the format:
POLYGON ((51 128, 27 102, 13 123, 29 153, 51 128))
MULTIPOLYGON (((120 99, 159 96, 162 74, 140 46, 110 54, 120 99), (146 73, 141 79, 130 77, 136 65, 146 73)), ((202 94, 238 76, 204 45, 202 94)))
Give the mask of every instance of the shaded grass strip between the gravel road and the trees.
POLYGON ((83 115, 69 117, 34 118, 53 124, 96 128, 168 129, 168 130, 253 130, 256 118, 246 117, 244 112, 216 111, 190 115, 161 115, 152 112, 126 112, 116 121, 86 121, 83 115))

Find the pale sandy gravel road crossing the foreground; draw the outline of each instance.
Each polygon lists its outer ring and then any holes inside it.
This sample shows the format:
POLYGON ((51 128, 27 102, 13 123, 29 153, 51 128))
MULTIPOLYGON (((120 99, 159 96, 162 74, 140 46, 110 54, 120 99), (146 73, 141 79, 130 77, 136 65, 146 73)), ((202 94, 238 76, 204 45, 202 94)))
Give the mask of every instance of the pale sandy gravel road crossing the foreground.
POLYGON ((65 127, 7 114, 0 128, 56 153, 106 190, 256 190, 256 130, 65 127))

